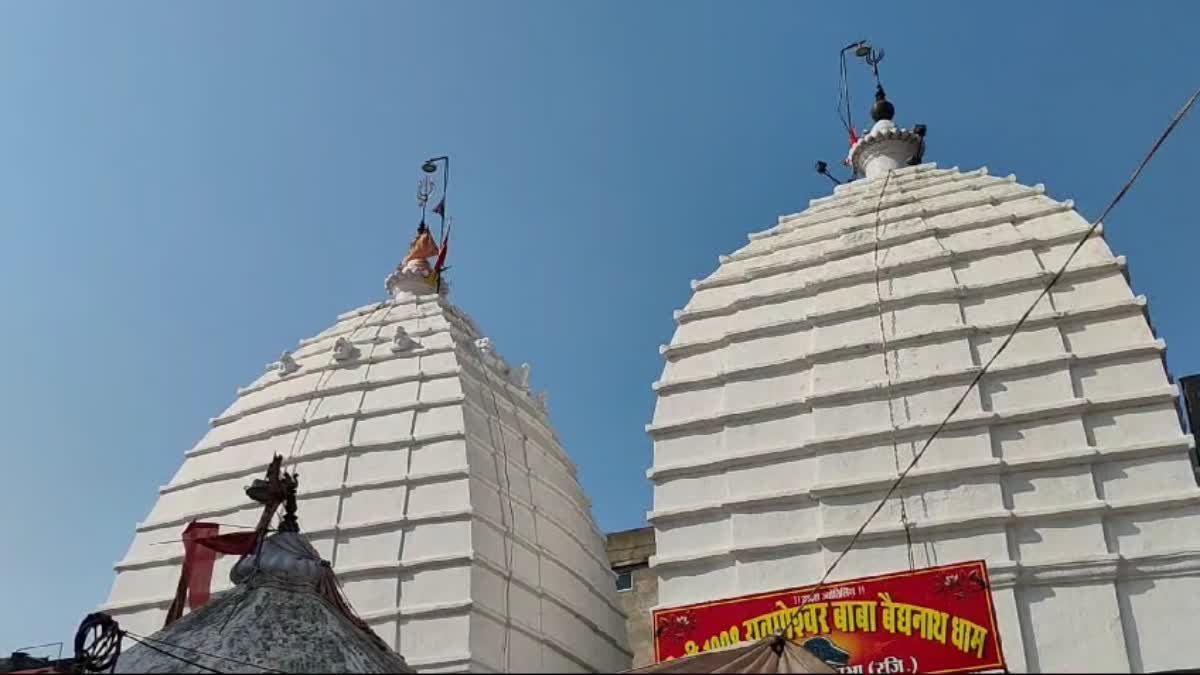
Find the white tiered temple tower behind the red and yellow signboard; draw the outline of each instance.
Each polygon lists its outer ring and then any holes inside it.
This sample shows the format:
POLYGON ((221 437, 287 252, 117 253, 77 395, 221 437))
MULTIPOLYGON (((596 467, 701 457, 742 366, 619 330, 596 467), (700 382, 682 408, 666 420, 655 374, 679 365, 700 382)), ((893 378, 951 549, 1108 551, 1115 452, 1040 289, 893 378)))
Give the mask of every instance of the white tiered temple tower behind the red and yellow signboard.
MULTIPOLYGON (((751 234, 676 312, 647 428, 660 607, 816 583, 1090 227, 986 169, 898 169, 876 213, 883 184, 751 234)), ((898 491, 918 567, 986 558, 1014 671, 1200 662, 1164 351, 1098 228, 898 491)), ((832 578, 907 567, 893 497, 832 578)))

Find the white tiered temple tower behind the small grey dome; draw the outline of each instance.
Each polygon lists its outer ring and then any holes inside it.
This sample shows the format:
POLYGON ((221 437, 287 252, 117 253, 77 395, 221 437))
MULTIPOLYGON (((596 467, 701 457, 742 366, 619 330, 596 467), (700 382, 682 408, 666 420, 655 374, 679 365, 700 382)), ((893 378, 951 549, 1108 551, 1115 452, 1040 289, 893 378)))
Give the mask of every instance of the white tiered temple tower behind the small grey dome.
MULTIPOLYGON (((628 668, 604 536, 528 368, 444 298, 400 295, 342 315, 239 390, 161 488, 102 609, 157 631, 185 524, 253 526, 242 489, 280 454, 313 546, 418 671, 628 668)), ((217 561, 214 591, 235 561, 217 561)))

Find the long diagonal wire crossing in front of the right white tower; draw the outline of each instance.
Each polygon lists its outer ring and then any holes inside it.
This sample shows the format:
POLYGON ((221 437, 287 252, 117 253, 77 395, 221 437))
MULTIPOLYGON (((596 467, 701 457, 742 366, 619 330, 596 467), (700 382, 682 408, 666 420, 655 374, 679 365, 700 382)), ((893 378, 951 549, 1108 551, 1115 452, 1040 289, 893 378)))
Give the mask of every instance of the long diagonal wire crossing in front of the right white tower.
MULTIPOLYGON (((966 389, 964 389, 962 395, 959 396, 959 400, 950 407, 950 412, 948 412, 946 417, 942 419, 941 424, 938 424, 937 428, 934 429, 934 432, 930 434, 929 438, 926 438, 925 442, 922 444, 920 450, 918 450, 913 455, 912 461, 908 462, 908 466, 906 466, 905 470, 900 472, 900 476, 898 476, 896 479, 888 488, 888 491, 883 495, 883 498, 880 500, 880 503, 876 504, 875 509, 871 510, 870 515, 866 516, 866 520, 863 521, 863 525, 859 526, 859 528, 850 538, 850 543, 846 544, 846 548, 844 548, 842 551, 838 554, 838 557, 834 558, 833 563, 830 563, 829 567, 826 568, 824 574, 821 575, 821 580, 817 581, 816 586, 814 586, 811 593, 806 593, 806 597, 811 598, 817 596, 817 593, 824 586, 826 581, 829 580, 829 577, 838 568, 838 565, 841 563, 842 558, 845 558, 846 555, 851 551, 851 549, 854 548, 854 544, 858 543, 859 537, 863 536, 863 532, 866 530, 868 525, 870 525, 871 521, 875 519, 875 516, 880 514, 884 504, 887 504, 887 501, 892 498, 892 495, 894 495, 895 491, 900 488, 900 484, 904 483, 904 479, 907 478, 908 473, 913 470, 913 467, 917 466, 917 462, 919 462, 920 458, 924 456, 925 450, 929 449, 930 444, 934 442, 935 438, 937 438, 938 434, 941 434, 942 430, 946 429, 946 425, 949 424, 950 418, 954 417, 954 413, 956 413, 959 408, 962 407, 962 404, 964 401, 966 401, 967 395, 970 395, 971 392, 976 388, 976 386, 979 384, 979 381, 983 380, 984 375, 988 374, 988 371, 991 369, 991 365, 996 362, 997 358, 1000 358, 1000 354, 1002 354, 1004 350, 1008 348, 1008 345, 1013 341, 1013 338, 1016 336, 1016 333, 1020 331, 1021 327, 1030 318, 1030 315, 1033 313, 1033 310, 1038 306, 1038 303, 1042 301, 1042 298, 1046 297, 1050 293, 1050 289, 1054 288, 1054 286, 1058 282, 1060 279, 1062 279, 1062 275, 1067 271, 1067 265, 1069 265, 1070 262, 1075 258, 1075 255, 1079 253, 1080 249, 1082 249, 1084 245, 1087 244, 1087 240, 1091 239, 1092 234, 1096 232, 1096 228, 1099 227, 1102 222, 1104 222, 1104 219, 1108 217, 1108 215, 1112 211, 1112 209, 1116 208, 1116 205, 1121 202, 1121 199, 1124 198, 1126 193, 1129 192, 1129 189, 1133 187, 1134 183, 1136 183, 1138 178, 1141 175, 1142 169, 1146 168, 1146 165, 1148 165, 1150 161, 1158 153, 1158 149, 1163 145, 1163 142, 1166 141, 1166 138, 1171 135, 1171 132, 1175 131, 1175 127, 1180 124, 1180 121, 1188 114, 1188 112, 1192 110, 1192 107, 1195 104, 1196 98, 1200 98, 1200 89, 1198 89, 1188 98, 1187 103, 1184 103, 1183 107, 1180 108, 1177 113, 1175 113, 1175 117, 1171 118, 1171 123, 1166 126, 1166 130, 1163 131, 1163 133, 1158 137, 1158 141, 1156 141, 1154 144, 1151 147, 1146 156, 1142 157, 1141 162, 1138 165, 1138 168, 1133 172, 1133 175, 1130 175, 1129 179, 1124 183, 1124 185, 1117 192, 1116 197, 1114 197, 1112 201, 1109 202, 1108 207, 1104 208, 1099 217, 1092 221, 1091 227, 1087 228, 1087 232, 1084 233, 1079 243, 1075 244, 1075 247, 1072 249, 1070 255, 1068 255, 1067 259, 1064 259, 1062 262, 1062 265, 1058 267, 1058 271, 1056 271, 1055 275, 1050 279, 1050 281, 1045 285, 1045 287, 1042 288, 1042 292, 1038 293, 1038 297, 1033 300, 1032 304, 1030 304, 1030 307, 1025 310, 1021 317, 1016 321, 1016 324, 1013 325, 1013 328, 1009 330, 1008 335, 1004 338, 1004 341, 1000 344, 1000 347, 997 347, 996 352, 992 353, 991 358, 988 359, 988 363, 985 363, 983 368, 980 368, 979 371, 976 374, 976 376, 971 380, 971 383, 967 384, 966 389)), ((881 196, 882 196, 882 190, 881 190, 881 196)), ((880 205, 882 205, 882 197, 880 201, 880 205)), ((877 207, 876 216, 878 216, 878 210, 880 209, 877 207)), ((804 607, 804 604, 806 603, 802 602, 797 609, 804 607)), ((792 626, 794 625, 796 619, 798 616, 799 611, 792 613, 792 617, 787 622, 787 626, 784 627, 784 632, 792 629, 792 626)))

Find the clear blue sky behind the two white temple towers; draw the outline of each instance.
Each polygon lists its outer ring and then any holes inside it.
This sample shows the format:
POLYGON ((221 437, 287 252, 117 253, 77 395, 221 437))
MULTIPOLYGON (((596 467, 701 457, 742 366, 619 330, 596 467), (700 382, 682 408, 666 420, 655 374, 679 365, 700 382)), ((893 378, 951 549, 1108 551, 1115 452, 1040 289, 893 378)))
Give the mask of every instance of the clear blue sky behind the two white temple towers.
MULTIPOLYGON (((926 160, 1094 216, 1200 84, 1198 23, 1182 1, 4 4, 0 653, 70 640, 208 418, 382 297, 425 157, 454 156, 455 301, 533 364, 601 527, 635 527, 671 312, 828 192, 842 44, 887 49, 926 160)), ((1175 375, 1200 371, 1198 141, 1190 119, 1106 228, 1175 375)))

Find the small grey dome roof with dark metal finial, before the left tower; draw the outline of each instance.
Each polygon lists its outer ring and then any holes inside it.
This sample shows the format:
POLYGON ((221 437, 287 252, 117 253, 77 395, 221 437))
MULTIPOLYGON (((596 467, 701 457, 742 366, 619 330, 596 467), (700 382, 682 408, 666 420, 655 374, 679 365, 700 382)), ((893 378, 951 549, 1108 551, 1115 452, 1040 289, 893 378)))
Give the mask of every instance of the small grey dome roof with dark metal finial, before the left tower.
POLYGON ((103 647, 115 632, 137 643, 125 655, 84 651, 89 664, 116 673, 413 671, 350 608, 331 566, 300 532, 299 477, 282 471, 282 464, 275 455, 266 477, 246 488, 263 514, 229 573, 234 587, 150 637, 124 631, 107 616, 101 619, 108 622, 85 621, 84 641, 98 633, 94 641, 103 647), (281 506, 280 525, 268 536, 281 506))

